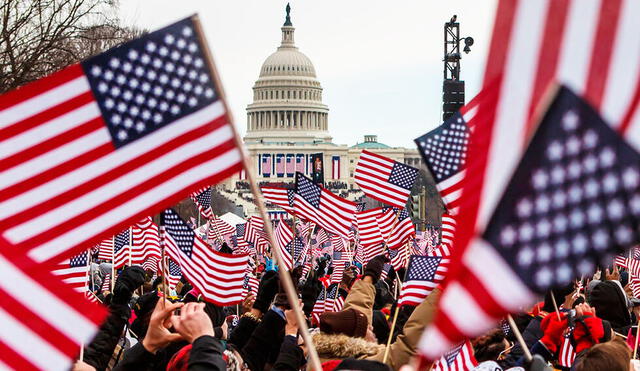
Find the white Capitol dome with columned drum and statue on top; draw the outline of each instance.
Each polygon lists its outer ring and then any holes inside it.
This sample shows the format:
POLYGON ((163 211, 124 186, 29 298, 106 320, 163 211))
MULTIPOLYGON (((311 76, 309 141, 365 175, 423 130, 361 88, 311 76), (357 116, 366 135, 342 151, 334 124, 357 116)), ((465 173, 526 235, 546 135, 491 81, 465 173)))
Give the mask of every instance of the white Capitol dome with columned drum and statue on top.
POLYGON ((298 50, 289 15, 278 49, 262 64, 247 106, 245 143, 330 143, 329 108, 309 57, 298 50))

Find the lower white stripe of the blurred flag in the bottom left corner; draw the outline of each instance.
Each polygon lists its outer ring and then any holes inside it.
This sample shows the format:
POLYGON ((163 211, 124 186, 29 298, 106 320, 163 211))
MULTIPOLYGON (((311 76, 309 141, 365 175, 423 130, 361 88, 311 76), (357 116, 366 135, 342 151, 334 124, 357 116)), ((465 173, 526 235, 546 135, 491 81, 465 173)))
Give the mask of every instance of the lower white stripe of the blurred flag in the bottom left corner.
POLYGON ((30 328, 23 326, 19 318, 14 318, 0 307, 0 341, 25 359, 43 370, 64 370, 70 360, 51 343, 42 339, 30 328))

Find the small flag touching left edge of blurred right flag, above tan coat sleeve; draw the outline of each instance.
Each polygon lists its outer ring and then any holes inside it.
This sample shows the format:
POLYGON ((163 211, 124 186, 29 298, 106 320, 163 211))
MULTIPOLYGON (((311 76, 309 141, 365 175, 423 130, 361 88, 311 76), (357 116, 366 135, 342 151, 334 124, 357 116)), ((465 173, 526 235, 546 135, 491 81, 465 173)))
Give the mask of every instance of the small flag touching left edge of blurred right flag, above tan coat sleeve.
POLYGON ((449 259, 438 256, 409 258, 409 267, 400 291, 398 305, 419 305, 444 280, 449 259))

